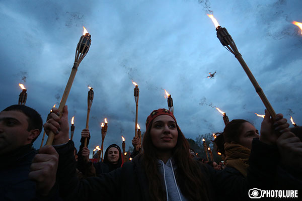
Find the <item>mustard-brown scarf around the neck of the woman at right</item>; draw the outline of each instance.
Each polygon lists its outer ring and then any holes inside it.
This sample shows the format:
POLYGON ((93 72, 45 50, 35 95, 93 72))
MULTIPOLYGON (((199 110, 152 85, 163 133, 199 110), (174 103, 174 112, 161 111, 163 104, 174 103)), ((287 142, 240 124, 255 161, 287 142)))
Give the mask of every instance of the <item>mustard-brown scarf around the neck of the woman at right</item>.
POLYGON ((251 150, 240 144, 224 143, 226 165, 234 167, 243 176, 248 175, 249 156, 251 150))

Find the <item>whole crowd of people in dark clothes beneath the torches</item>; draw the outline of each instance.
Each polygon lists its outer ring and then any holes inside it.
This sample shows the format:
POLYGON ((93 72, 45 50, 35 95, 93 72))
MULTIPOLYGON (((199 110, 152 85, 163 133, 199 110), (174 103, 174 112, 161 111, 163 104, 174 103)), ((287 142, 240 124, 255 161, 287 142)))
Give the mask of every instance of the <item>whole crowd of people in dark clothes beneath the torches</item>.
POLYGON ((192 157, 166 109, 147 117, 141 148, 133 138, 127 162, 116 144, 103 161, 92 162, 84 146, 89 130, 78 151, 67 117, 66 106, 62 114, 52 108, 44 130, 55 133, 53 144, 36 150, 39 113, 24 105, 0 113, 0 200, 249 200, 253 188, 302 189, 301 128, 290 129, 282 114, 272 119, 265 111, 260 132, 246 120, 228 123, 214 141, 224 164, 192 157))

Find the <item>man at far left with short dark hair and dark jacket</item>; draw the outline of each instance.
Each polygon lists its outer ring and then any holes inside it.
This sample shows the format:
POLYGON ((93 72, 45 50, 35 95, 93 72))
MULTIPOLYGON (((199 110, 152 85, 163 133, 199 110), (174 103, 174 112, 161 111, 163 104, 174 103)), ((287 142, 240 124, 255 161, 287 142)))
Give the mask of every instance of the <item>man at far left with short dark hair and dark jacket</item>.
POLYGON ((0 112, 0 200, 32 200, 36 196, 36 182, 29 172, 37 154, 33 142, 42 124, 40 114, 24 105, 0 112))

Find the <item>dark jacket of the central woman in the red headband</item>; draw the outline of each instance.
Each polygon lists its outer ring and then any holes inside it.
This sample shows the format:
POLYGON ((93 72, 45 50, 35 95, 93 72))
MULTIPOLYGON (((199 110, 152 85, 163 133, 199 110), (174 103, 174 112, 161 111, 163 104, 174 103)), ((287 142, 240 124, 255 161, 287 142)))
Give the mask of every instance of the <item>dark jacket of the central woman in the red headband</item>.
MULTIPOLYGON (((247 178, 234 177, 228 172, 216 171, 201 165, 210 200, 216 200, 216 194, 224 193, 226 200, 244 200, 252 187, 271 187, 275 177, 272 161, 277 160, 276 147, 265 145, 259 140, 253 141, 250 155, 250 168, 247 178), (269 157, 268 157, 269 156, 269 157)), ((150 200, 147 177, 142 167, 143 156, 135 157, 108 174, 79 180, 75 176, 75 164, 72 157, 73 142, 57 148, 59 153, 58 180, 61 196, 65 200, 150 200)), ((181 182, 181 181, 178 181, 181 182)))

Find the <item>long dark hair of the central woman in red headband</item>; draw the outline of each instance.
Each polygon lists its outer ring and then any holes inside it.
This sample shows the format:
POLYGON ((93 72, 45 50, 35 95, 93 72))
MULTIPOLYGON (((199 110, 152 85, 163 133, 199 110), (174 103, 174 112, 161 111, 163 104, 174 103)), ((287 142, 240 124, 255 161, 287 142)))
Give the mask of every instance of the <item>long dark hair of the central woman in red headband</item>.
MULTIPOLYGON (((143 136, 143 166, 148 178, 149 195, 152 200, 167 200, 165 187, 163 186, 162 175, 158 166, 158 158, 156 155, 156 147, 152 143, 150 130, 152 123, 149 124, 147 131, 143 136)), ((182 194, 188 200, 208 200, 208 190, 203 178, 203 173, 197 161, 193 161, 190 157, 190 146, 184 134, 177 126, 178 138, 177 144, 173 148, 173 159, 177 165, 176 180, 182 194), (180 182, 181 181, 181 182, 180 182)))

